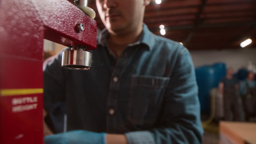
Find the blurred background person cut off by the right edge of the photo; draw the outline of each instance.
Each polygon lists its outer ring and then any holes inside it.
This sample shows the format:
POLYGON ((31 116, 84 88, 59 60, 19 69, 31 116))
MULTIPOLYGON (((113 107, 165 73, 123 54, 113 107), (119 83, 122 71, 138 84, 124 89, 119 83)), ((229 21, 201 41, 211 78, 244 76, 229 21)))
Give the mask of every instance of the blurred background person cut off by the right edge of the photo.
POLYGON ((247 121, 255 121, 256 116, 256 81, 255 73, 249 71, 247 78, 240 83, 240 95, 242 95, 245 117, 247 121))

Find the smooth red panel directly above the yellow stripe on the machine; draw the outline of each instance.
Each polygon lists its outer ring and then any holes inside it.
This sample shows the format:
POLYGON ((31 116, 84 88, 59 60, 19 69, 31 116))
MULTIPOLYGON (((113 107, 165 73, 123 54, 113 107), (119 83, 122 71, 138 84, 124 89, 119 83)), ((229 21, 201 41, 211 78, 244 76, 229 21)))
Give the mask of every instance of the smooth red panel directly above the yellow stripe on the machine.
POLYGON ((4 55, 1 64, 1 89, 9 88, 43 88, 43 61, 4 55))

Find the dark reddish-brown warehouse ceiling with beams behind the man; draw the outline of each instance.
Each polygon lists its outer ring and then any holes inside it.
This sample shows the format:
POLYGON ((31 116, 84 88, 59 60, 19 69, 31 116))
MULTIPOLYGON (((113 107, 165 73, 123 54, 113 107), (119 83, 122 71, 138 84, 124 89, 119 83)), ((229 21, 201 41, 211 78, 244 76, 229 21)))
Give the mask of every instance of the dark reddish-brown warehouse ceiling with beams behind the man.
MULTIPOLYGON (((96 11, 97 25, 104 28, 94 0, 89 7, 96 11)), ((256 0, 162 0, 146 7, 144 22, 151 32, 182 42, 189 50, 256 48, 256 0)))

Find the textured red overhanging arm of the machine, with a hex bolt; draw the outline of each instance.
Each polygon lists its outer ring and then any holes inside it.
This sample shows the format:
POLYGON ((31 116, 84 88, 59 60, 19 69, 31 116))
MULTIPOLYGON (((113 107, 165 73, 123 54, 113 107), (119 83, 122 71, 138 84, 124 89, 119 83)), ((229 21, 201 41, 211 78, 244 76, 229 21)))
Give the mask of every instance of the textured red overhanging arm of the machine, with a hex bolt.
POLYGON ((96 49, 96 21, 85 15, 67 0, 33 0, 45 27, 45 39, 71 46, 87 46, 96 49), (82 23, 84 30, 76 32, 76 24, 82 23))

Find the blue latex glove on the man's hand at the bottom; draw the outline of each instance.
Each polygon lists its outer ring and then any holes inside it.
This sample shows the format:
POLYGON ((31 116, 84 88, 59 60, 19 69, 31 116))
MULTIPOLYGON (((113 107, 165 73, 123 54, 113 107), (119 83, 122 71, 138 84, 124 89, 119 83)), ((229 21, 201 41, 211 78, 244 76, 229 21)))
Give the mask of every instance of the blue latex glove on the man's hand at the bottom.
POLYGON ((45 144, 105 144, 105 133, 75 130, 44 137, 45 144))

